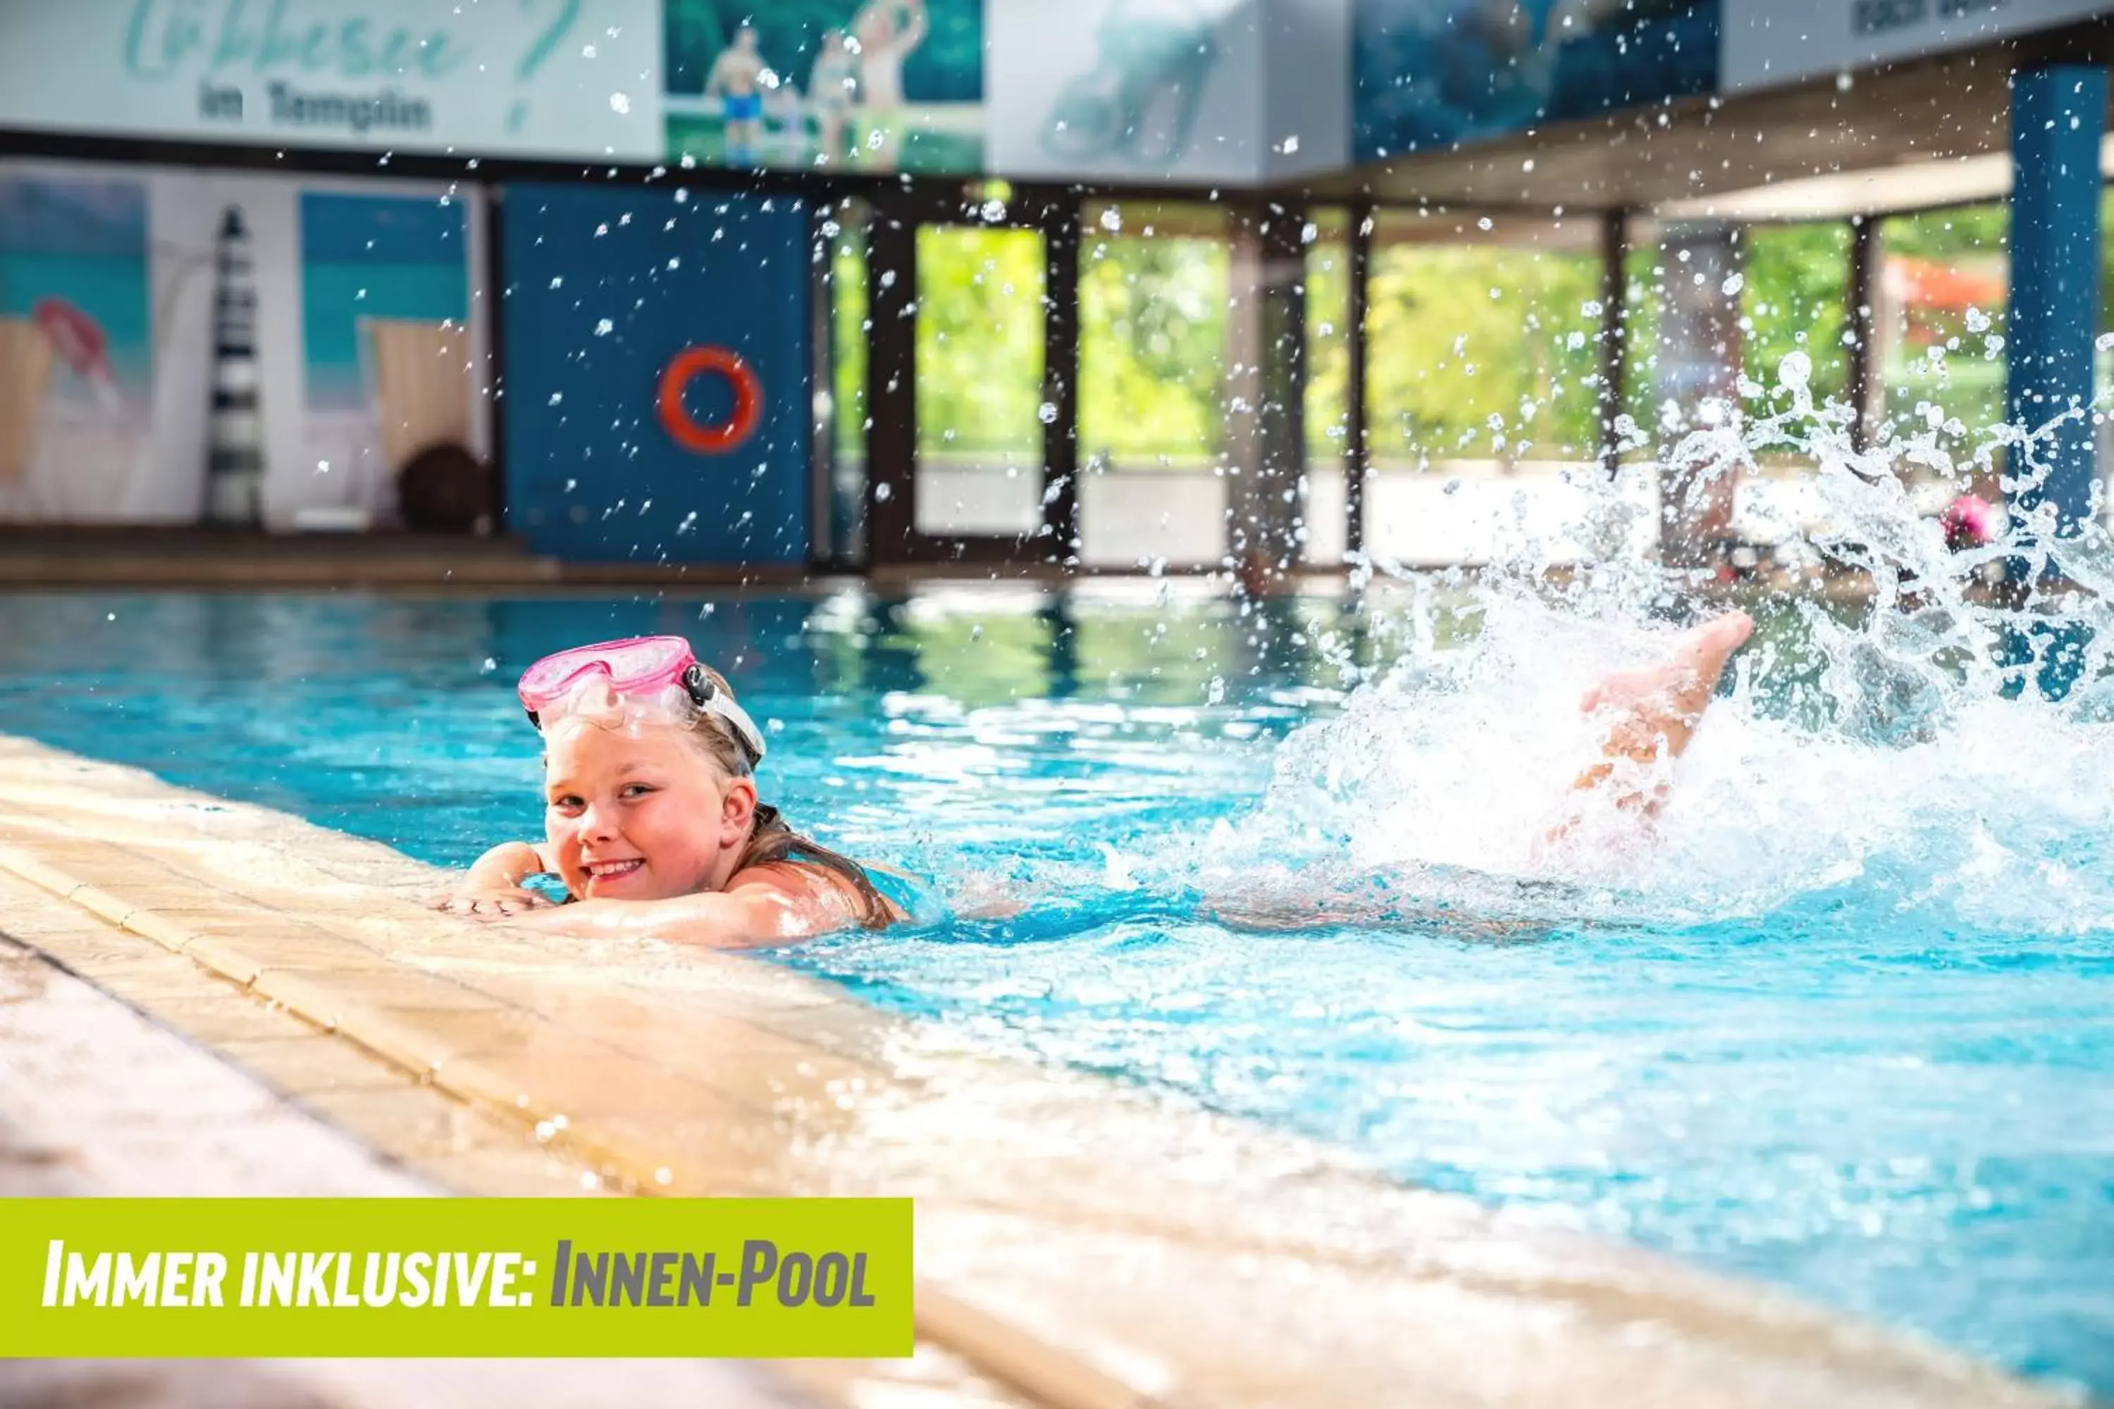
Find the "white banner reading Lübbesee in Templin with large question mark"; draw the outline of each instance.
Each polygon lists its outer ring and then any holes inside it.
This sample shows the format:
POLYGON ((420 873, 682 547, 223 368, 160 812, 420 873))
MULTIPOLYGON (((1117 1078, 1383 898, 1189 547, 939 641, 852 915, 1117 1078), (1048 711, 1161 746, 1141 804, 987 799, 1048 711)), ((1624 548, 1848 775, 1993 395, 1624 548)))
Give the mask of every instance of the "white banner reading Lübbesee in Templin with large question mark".
POLYGON ((0 127, 660 161, 655 0, 0 6, 0 127))

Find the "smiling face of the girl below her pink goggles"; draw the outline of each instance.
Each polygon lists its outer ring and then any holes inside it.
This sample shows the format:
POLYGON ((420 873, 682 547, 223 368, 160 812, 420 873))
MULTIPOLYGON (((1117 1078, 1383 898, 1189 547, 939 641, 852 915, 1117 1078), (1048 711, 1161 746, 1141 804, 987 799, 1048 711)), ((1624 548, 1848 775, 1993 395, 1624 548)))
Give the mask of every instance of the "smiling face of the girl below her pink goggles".
POLYGON ((674 725, 575 714, 543 748, 543 832, 569 891, 666 900, 725 887, 757 809, 753 782, 721 773, 674 725))

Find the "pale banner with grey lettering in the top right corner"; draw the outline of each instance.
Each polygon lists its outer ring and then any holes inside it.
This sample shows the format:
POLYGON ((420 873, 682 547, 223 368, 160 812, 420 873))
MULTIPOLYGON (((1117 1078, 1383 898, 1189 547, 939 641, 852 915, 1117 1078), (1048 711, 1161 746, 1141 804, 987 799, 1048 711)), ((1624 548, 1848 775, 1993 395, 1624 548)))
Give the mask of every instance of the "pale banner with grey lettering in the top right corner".
POLYGON ((2106 0, 1725 0, 1725 91, 1843 74, 2106 11, 2106 0))

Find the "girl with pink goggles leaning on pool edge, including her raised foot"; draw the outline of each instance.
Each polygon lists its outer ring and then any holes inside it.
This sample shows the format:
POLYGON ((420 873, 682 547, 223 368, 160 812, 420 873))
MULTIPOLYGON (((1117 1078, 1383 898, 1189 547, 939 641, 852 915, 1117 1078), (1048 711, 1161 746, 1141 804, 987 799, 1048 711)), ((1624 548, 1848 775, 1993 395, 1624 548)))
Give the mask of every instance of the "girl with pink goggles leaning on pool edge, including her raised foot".
MULTIPOLYGON (((1689 746, 1727 657, 1755 623, 1725 613, 1685 632, 1645 670, 1609 676, 1581 708, 1607 720, 1600 758, 1571 784, 1564 843, 1586 805, 1653 818, 1655 767, 1689 746)), ((750 948, 863 925, 905 910, 858 862, 793 832, 757 801, 763 735, 725 678, 681 636, 579 646, 520 680, 543 733, 543 841, 509 841, 469 868, 440 908, 564 934, 638 936, 750 948), (567 902, 524 887, 556 872, 567 902)))

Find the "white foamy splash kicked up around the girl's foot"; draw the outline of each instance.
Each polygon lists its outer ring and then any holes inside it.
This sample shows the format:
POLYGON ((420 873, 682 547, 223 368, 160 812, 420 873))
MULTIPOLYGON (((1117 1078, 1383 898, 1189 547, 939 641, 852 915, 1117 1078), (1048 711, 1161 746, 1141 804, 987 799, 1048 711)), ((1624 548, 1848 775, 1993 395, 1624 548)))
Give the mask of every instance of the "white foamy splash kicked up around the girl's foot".
MULTIPOLYGON (((1672 765, 1670 803, 1649 832, 1602 809, 1579 841, 1543 841, 1569 779, 1598 752, 1577 708, 1586 687, 1662 653, 1668 615, 1710 608, 1624 553, 1550 587, 1545 545, 1516 537, 1465 589, 1482 619, 1471 640, 1438 649, 1435 619, 1461 610, 1459 594, 1448 604, 1412 587, 1410 646, 1338 718, 1285 741, 1260 815, 1158 860, 1207 891, 1300 864, 1319 866, 1309 879, 1325 887, 1342 870, 1418 866, 1573 881, 1560 906, 1573 919, 1685 923, 1843 891, 1903 917, 2021 934, 2114 927, 2114 868, 2095 856, 2097 839, 2114 837, 2106 534, 2091 526, 2061 547, 2076 594, 2023 608, 1970 594, 1983 564, 2023 558, 2038 570, 2046 551, 2029 532, 1949 551, 1903 482, 1972 469, 1945 452, 1947 427, 1856 452, 1848 414, 1816 408, 1807 374, 1803 355, 1788 357, 1782 412, 1695 431, 1670 458, 1750 467, 1763 450, 1810 454, 1831 528, 1807 547, 1871 572, 1877 598, 1871 610, 1776 606, 1780 619, 1736 657, 1729 695, 1672 765), (2006 699, 2004 634, 2061 621, 2093 632, 2078 684, 2059 701, 2032 682, 2006 699)), ((2006 442, 2019 444, 2000 427, 1977 454, 2006 442)), ((2025 480, 2044 473, 2038 444, 2025 446, 2025 480)), ((1613 486, 1596 503, 1586 532, 1619 543, 1632 503, 1613 486)))

